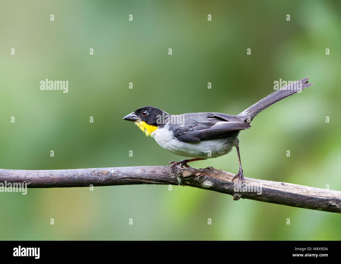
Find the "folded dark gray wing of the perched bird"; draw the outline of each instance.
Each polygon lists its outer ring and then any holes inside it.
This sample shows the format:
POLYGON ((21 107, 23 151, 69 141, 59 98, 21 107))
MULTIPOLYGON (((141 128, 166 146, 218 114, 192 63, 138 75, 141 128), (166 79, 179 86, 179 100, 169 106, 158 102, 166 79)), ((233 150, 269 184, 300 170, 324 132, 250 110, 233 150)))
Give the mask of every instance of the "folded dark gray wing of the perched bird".
POLYGON ((251 127, 245 122, 245 117, 223 113, 188 113, 181 116, 183 123, 170 124, 170 129, 175 138, 184 142, 228 137, 235 134, 236 130, 251 127))

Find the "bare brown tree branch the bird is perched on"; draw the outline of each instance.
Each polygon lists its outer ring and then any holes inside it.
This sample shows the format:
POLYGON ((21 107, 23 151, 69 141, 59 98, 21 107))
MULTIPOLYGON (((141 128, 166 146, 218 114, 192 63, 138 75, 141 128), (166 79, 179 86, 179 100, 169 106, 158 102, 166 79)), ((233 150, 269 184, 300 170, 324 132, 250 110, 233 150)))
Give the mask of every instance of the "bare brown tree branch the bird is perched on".
POLYGON ((174 184, 231 194, 267 203, 341 213, 341 192, 291 183, 244 178, 246 186, 239 190, 231 182, 235 174, 216 170, 182 168, 171 171, 166 166, 117 167, 76 170, 3 170, 0 186, 5 183, 27 183, 29 188, 89 187, 128 184, 174 184), (252 187, 252 188, 251 188, 252 187), (246 189, 246 190, 245 190, 246 189), (258 193, 257 193, 258 192, 258 193))

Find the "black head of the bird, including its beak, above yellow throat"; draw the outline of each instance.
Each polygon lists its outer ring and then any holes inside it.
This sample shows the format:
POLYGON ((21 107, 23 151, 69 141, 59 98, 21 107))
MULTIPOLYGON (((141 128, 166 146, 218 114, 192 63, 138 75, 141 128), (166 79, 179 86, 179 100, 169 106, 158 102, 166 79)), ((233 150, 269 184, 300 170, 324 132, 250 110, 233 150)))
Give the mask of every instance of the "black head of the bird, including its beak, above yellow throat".
POLYGON ((123 120, 133 122, 144 121, 148 125, 159 126, 162 124, 162 122, 160 123, 160 117, 162 118, 162 113, 164 113, 163 116, 168 115, 159 108, 153 106, 144 106, 125 116, 123 120))

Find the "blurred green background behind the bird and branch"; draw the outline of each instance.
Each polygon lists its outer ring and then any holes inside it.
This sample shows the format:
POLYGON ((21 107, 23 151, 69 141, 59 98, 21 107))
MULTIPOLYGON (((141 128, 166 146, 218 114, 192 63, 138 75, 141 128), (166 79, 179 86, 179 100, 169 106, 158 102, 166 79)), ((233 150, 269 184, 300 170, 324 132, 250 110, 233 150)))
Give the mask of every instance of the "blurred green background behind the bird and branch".
MULTIPOLYGON (((244 175, 341 190, 340 7, 309 0, 1 1, 0 168, 165 165, 182 157, 125 115, 145 105, 236 115, 273 92, 279 78, 310 76, 314 86, 241 132, 244 175), (69 92, 41 91, 45 78, 68 80, 69 92)), ((238 159, 234 150, 192 165, 236 173, 238 159)), ((29 189, 0 193, 0 201, 1 240, 341 237, 340 214, 182 186, 29 189)))

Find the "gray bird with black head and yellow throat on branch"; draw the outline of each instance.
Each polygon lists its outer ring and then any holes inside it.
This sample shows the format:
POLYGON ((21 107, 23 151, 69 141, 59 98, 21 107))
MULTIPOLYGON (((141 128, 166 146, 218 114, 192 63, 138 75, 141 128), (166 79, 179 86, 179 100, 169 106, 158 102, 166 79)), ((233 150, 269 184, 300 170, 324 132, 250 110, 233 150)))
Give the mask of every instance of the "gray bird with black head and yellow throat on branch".
POLYGON ((244 174, 240 161, 239 132, 249 129, 253 119, 264 109, 312 86, 308 79, 306 77, 277 89, 236 116, 218 112, 171 115, 157 107, 144 106, 125 116, 123 120, 134 122, 147 137, 154 138, 164 149, 191 158, 170 161, 167 164, 171 164, 169 170, 174 166, 189 168, 188 162, 217 158, 236 147, 239 169, 232 182, 238 178, 240 188, 244 183, 244 174))

